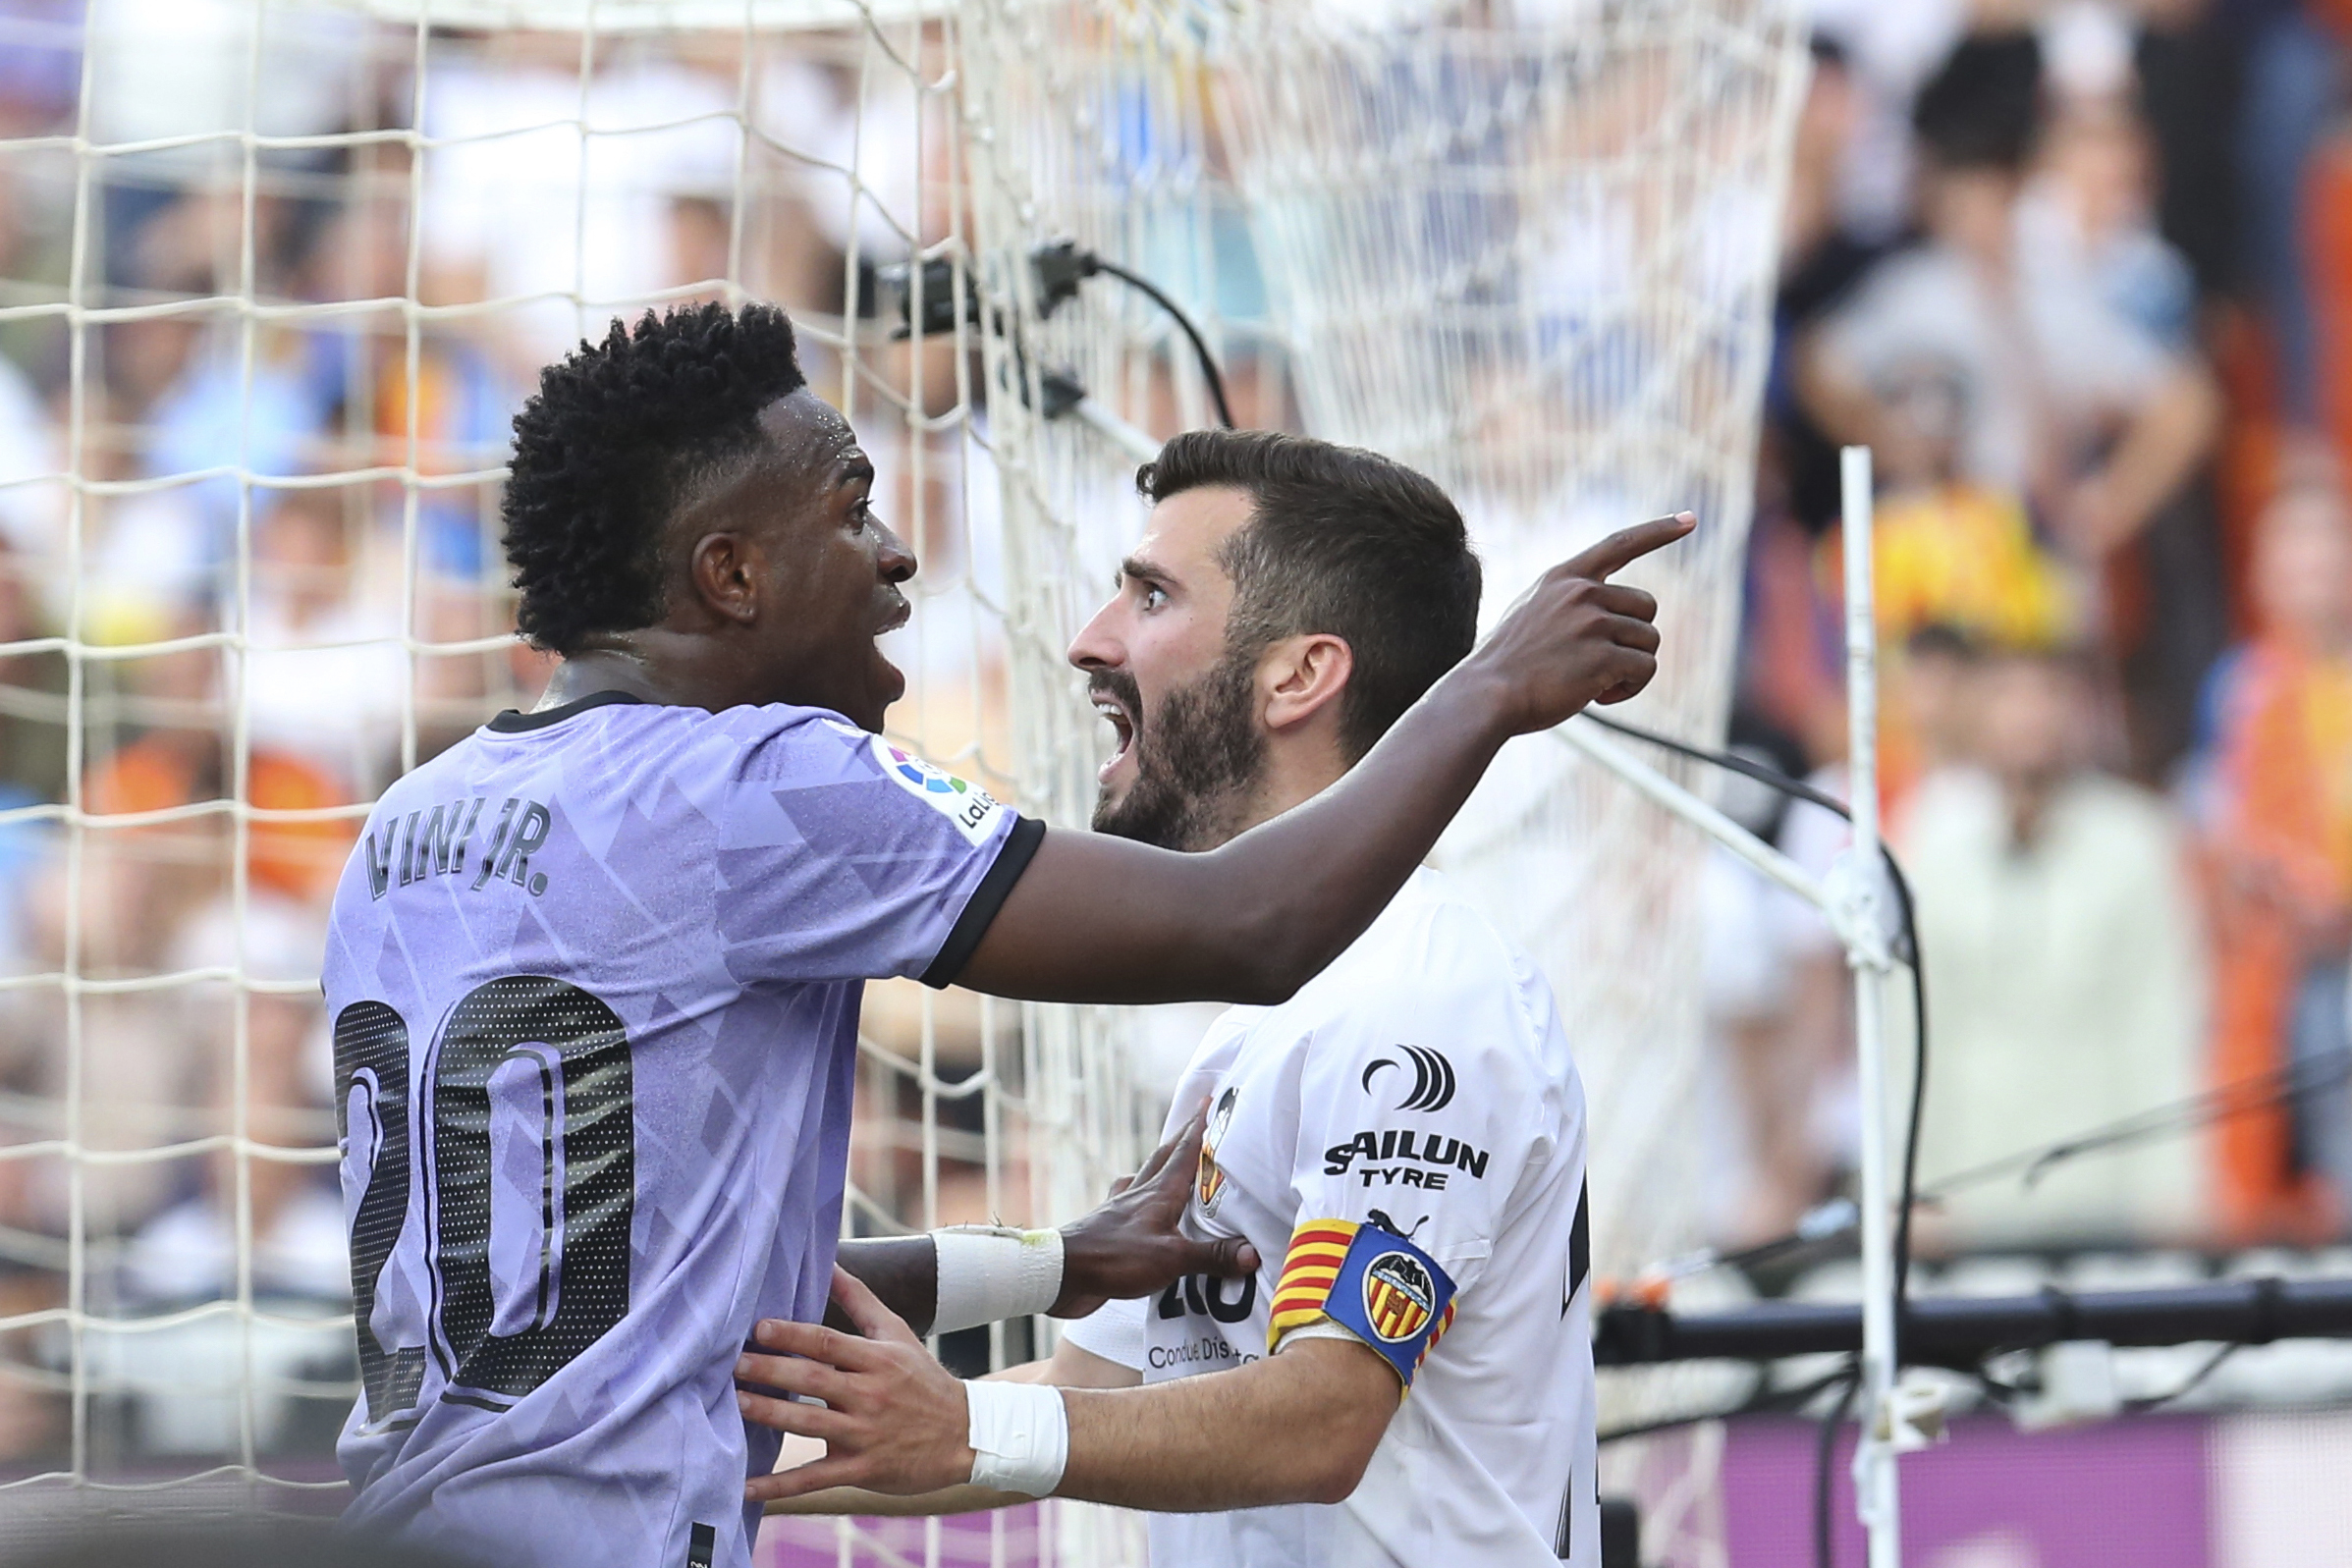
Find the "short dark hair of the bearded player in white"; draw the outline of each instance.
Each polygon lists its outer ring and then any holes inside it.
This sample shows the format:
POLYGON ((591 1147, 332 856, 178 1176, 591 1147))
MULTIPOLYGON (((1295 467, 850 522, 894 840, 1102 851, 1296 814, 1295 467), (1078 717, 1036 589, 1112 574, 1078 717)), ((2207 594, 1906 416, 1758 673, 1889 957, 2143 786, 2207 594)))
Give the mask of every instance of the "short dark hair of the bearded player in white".
POLYGON ((1218 552, 1228 651, 1345 637, 1341 745, 1371 750, 1477 642, 1479 564, 1446 491, 1404 463, 1277 430, 1185 430, 1136 470, 1148 501, 1230 484, 1249 522, 1218 552))

